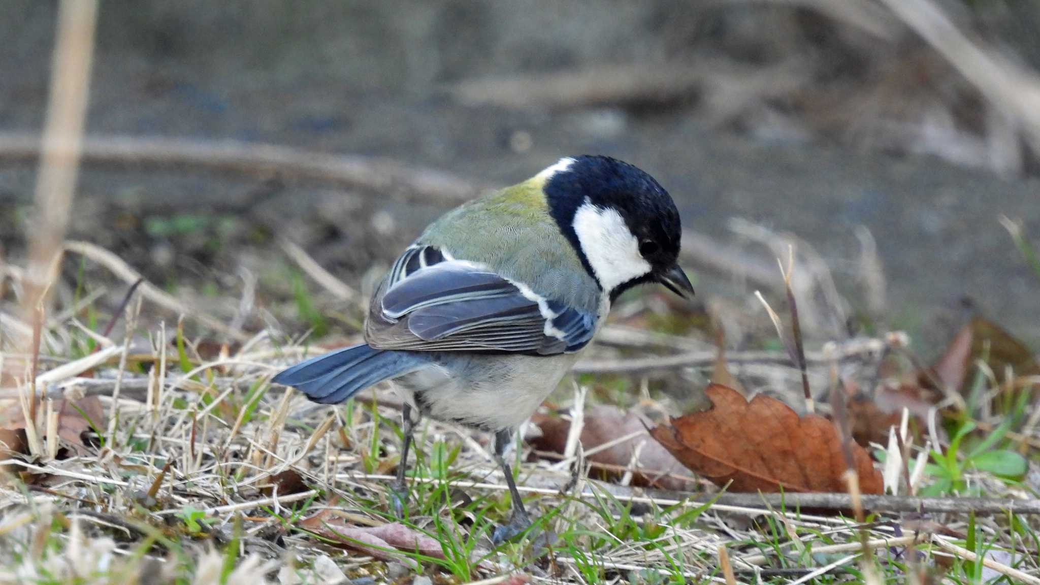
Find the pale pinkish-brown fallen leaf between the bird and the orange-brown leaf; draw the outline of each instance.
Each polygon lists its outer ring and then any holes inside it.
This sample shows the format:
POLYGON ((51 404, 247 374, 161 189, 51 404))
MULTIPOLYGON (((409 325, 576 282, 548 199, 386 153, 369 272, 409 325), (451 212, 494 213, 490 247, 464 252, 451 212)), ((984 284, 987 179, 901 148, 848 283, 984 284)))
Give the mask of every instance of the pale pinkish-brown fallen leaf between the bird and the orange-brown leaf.
MULTIPOLYGON (((560 416, 538 413, 531 422, 541 429, 541 436, 530 439, 530 443, 539 451, 564 453, 567 435, 571 429, 570 421, 560 416)), ((593 449, 616 440, 625 435, 646 431, 646 425, 635 413, 626 413, 614 406, 597 405, 584 414, 584 426, 581 428, 581 448, 587 453, 593 449)), ((662 489, 693 489, 697 483, 693 478, 682 479, 674 475, 686 475, 682 463, 677 461, 665 448, 649 436, 642 435, 620 442, 588 457, 589 461, 598 463, 594 470, 602 473, 602 477, 620 477, 632 460, 636 446, 643 442, 640 451, 639 466, 633 469, 632 484, 644 487, 659 487, 662 489)))

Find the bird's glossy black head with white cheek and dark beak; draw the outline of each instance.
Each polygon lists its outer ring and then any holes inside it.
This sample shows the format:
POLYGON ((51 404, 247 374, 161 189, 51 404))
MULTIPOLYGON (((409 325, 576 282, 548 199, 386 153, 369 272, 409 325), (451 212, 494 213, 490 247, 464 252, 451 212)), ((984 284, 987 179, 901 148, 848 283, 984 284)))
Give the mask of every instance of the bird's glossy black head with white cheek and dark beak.
POLYGON ((677 263, 679 212, 653 177, 607 156, 563 158, 539 176, 549 212, 612 299, 644 282, 694 294, 677 263))

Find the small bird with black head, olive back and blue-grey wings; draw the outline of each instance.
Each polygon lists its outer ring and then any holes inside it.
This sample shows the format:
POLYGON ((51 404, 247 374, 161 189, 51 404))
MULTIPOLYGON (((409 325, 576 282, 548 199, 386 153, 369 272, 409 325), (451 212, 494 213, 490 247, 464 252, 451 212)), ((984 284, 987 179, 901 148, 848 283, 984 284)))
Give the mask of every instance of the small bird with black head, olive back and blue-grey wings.
POLYGON ((606 156, 560 159, 535 177, 447 212, 391 266, 372 295, 364 344, 293 365, 274 382, 336 404, 384 380, 404 399, 394 507, 420 417, 494 436, 513 512, 499 543, 530 517, 504 453, 600 329, 610 303, 642 283, 693 296, 677 263, 671 196, 606 156))

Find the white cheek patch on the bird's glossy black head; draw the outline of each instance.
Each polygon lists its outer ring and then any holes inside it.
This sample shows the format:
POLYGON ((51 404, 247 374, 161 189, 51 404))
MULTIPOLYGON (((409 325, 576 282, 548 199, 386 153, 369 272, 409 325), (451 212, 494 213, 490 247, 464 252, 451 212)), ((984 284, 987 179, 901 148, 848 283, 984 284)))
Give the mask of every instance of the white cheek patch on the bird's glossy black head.
POLYGON ((603 290, 650 273, 639 240, 617 209, 597 207, 586 199, 574 213, 572 226, 603 290))

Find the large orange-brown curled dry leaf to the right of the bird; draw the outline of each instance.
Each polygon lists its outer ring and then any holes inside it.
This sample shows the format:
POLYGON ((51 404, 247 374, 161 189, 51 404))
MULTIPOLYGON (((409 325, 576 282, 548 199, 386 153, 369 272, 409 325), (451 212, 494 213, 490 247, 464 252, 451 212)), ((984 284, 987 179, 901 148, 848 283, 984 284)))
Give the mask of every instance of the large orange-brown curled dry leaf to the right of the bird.
MULTIPOLYGON (((786 404, 758 395, 751 402, 736 390, 710 384, 712 408, 672 418, 650 433, 677 459, 730 491, 847 490, 841 441, 823 416, 799 417, 786 404)), ((881 493, 881 473, 853 444, 863 493, 881 493)))

